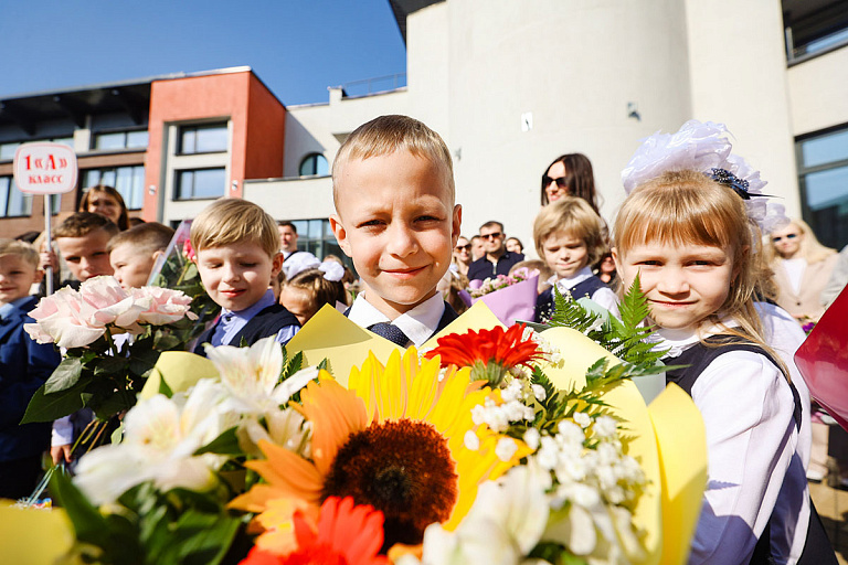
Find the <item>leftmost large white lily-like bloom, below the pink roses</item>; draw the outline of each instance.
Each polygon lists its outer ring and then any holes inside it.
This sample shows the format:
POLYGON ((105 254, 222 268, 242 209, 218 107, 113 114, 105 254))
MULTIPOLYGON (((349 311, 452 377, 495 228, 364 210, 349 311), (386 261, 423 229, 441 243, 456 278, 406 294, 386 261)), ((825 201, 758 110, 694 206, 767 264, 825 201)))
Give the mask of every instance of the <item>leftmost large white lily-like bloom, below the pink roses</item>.
POLYGON ((162 492, 212 488, 212 471, 225 458, 194 452, 235 424, 214 409, 221 397, 221 387, 203 380, 188 395, 160 394, 140 402, 124 418, 124 443, 85 455, 74 483, 96 504, 114 502, 147 481, 162 492))

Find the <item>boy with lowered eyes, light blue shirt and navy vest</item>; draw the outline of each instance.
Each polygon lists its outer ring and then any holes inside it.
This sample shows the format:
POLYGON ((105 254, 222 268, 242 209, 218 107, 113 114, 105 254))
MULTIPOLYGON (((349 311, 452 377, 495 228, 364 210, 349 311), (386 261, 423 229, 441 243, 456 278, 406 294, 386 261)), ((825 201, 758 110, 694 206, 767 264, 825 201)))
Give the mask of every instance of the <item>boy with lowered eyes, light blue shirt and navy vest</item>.
POLYGON ((269 335, 287 343, 297 333, 297 318, 268 288, 283 267, 273 217, 246 200, 221 199, 192 222, 190 237, 200 279, 221 307, 218 322, 201 334, 194 353, 204 355, 204 343, 252 345, 269 335))

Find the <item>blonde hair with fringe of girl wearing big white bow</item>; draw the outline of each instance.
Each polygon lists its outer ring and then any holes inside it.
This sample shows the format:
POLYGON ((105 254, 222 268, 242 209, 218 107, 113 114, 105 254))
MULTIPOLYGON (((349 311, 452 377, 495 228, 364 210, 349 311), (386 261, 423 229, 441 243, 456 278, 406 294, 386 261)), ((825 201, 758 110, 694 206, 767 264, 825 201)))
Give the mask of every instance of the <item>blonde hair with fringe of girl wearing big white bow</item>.
POLYGON ((741 198, 703 173, 668 171, 630 192, 615 218, 614 245, 619 256, 649 243, 730 249, 734 271, 730 292, 708 320, 722 332, 752 340, 772 352, 763 340, 753 300, 761 273, 753 260, 760 253, 759 228, 749 220, 741 198), (742 331, 724 327, 720 315, 732 317, 742 331))

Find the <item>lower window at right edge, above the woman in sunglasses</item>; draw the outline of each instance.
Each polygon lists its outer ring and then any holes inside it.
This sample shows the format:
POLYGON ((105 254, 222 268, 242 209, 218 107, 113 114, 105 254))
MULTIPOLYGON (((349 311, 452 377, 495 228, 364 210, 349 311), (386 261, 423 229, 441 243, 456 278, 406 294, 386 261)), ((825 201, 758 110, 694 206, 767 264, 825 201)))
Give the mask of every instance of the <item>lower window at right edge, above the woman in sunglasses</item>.
POLYGON ((848 127, 797 141, 804 220, 828 247, 848 244, 848 127))

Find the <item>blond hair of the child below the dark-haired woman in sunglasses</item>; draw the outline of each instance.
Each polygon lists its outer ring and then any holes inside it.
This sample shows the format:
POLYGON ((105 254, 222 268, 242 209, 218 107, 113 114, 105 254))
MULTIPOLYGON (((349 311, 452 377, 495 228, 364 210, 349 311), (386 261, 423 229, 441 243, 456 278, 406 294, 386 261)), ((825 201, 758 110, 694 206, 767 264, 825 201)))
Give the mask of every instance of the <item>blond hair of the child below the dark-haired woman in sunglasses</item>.
POLYGON ((544 241, 558 232, 565 232, 585 244, 587 265, 594 265, 606 253, 603 220, 581 198, 562 196, 536 216, 533 242, 540 257, 544 257, 544 241))

